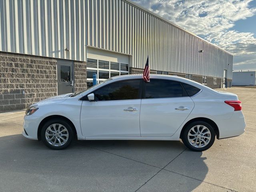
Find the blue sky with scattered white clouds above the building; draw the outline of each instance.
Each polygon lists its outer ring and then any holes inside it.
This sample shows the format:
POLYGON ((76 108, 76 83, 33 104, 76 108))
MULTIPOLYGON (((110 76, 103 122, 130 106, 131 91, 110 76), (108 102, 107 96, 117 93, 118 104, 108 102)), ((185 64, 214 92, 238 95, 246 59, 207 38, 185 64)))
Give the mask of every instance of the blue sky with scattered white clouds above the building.
POLYGON ((132 0, 234 54, 233 70, 256 70, 256 0, 132 0))

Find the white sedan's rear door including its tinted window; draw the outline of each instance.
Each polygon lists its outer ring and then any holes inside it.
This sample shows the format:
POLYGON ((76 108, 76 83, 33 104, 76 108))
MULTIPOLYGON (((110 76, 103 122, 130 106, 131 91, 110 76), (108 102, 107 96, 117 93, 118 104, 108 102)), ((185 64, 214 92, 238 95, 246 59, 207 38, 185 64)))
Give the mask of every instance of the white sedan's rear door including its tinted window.
POLYGON ((193 108, 194 102, 180 82, 150 79, 140 108, 141 136, 172 136, 193 108))

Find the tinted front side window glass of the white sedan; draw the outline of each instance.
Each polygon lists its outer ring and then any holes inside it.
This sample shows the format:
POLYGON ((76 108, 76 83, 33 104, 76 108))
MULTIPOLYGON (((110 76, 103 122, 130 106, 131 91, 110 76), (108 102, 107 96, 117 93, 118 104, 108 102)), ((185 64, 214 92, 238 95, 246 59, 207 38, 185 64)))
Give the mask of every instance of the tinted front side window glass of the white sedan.
POLYGON ((138 99, 140 80, 128 80, 112 83, 94 92, 96 101, 138 99))

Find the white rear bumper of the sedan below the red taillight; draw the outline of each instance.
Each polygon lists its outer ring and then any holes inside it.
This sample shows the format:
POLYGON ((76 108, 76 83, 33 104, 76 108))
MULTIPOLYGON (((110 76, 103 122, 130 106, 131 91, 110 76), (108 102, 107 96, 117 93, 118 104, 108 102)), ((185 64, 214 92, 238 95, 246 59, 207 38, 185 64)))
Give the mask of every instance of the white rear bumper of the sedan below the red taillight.
POLYGON ((230 119, 219 120, 219 139, 239 136, 244 133, 246 123, 242 111, 234 111, 230 119))

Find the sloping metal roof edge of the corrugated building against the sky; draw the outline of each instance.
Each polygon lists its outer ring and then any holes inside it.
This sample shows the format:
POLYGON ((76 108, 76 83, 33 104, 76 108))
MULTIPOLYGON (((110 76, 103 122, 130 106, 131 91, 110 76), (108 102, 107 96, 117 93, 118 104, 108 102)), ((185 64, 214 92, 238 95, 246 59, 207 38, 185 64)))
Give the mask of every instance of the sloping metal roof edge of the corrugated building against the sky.
POLYGON ((186 30, 186 29, 184 29, 184 28, 174 24, 173 22, 163 18, 162 16, 160 16, 158 14, 155 14, 154 12, 152 12, 152 11, 146 9, 146 8, 143 8, 142 6, 132 2, 131 0, 122 0, 122 1, 127 2, 128 4, 134 6, 134 7, 138 8, 138 9, 140 9, 140 10, 142 10, 142 11, 144 11, 144 12, 146 12, 146 13, 148 13, 148 14, 150 14, 150 15, 152 15, 152 16, 154 16, 154 17, 156 17, 156 18, 158 18, 158 19, 160 19, 160 20, 162 20, 162 21, 164 21, 164 22, 166 22, 166 23, 168 23, 168 24, 170 24, 170 25, 172 25, 172 26, 174 26, 174 27, 176 27, 176 28, 178 28, 178 29, 180 29, 180 30, 182 30, 182 31, 184 31, 184 32, 186 32, 186 33, 188 33, 188 34, 190 34, 190 35, 192 35, 192 36, 194 36, 194 37, 196 37, 196 38, 198 38, 198 39, 200 39, 200 40, 202 40, 202 41, 204 41, 204 42, 206 42, 206 43, 208 43, 208 44, 210 44, 210 45, 212 45, 212 46, 214 46, 214 47, 216 47, 216 48, 218 48, 220 50, 222 50, 222 51, 224 51, 224 52, 226 52, 226 53, 228 53, 228 54, 230 54, 230 55, 232 55, 232 56, 234 56, 234 54, 224 50, 223 48, 221 48, 221 47, 219 47, 219 46, 217 46, 217 45, 215 45, 215 44, 213 44, 211 42, 208 42, 207 40, 197 36, 196 34, 194 34, 192 32, 189 32, 188 30, 186 30))

